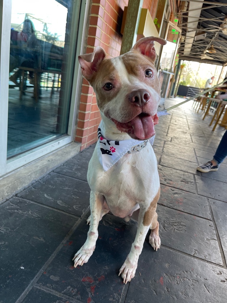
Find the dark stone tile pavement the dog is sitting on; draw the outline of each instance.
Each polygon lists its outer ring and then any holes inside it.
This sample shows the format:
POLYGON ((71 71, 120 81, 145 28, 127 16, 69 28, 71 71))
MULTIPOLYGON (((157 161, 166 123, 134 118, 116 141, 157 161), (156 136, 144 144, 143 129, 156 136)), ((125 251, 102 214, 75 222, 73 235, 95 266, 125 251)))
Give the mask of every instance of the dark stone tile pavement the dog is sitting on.
POLYGON ((217 172, 196 171, 225 130, 212 132, 192 101, 170 113, 154 141, 161 248, 146 238, 135 278, 124 285, 118 271, 136 223, 109 214, 89 262, 73 267, 88 231, 92 146, 0 205, 0 303, 226 302, 227 159, 217 172))

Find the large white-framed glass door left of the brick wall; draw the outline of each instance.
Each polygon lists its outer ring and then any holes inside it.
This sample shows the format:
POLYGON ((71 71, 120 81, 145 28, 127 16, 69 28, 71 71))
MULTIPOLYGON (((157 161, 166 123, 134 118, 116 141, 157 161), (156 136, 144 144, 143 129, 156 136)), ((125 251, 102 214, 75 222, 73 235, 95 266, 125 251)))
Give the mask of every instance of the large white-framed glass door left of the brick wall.
POLYGON ((74 141, 90 2, 1 3, 0 182, 74 141))

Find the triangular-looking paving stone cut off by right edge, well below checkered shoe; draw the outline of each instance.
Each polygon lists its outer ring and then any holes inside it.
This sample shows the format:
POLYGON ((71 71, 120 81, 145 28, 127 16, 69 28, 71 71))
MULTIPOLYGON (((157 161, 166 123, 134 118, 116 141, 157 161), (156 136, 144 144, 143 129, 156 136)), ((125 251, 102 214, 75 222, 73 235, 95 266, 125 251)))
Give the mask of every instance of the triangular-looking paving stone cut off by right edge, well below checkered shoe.
POLYGON ((214 199, 210 200, 210 206, 214 216, 215 225, 218 229, 218 235, 221 240, 222 249, 224 251, 225 260, 227 260, 227 203, 217 201, 214 199))

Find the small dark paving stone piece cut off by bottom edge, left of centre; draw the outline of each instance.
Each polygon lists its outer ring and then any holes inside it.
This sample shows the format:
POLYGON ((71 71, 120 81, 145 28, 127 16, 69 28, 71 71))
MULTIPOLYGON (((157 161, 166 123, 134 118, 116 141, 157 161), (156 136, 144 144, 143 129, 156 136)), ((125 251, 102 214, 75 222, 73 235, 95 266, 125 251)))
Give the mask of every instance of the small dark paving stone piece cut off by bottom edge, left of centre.
MULTIPOLYGON (((22 303, 69 303, 67 299, 59 298, 53 294, 33 287, 22 303)), ((70 302, 74 303, 74 302, 70 302)))

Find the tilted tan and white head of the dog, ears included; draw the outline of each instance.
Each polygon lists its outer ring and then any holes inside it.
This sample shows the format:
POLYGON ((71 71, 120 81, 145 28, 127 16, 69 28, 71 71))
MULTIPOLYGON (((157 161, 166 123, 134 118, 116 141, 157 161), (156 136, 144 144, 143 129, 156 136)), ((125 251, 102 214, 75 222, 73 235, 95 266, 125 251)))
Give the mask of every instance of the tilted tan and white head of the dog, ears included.
POLYGON ((119 131, 139 140, 155 135, 154 125, 158 123, 160 83, 154 67, 154 41, 166 44, 162 38, 148 37, 116 58, 105 58, 101 47, 78 57, 82 75, 96 93, 102 116, 119 131))

